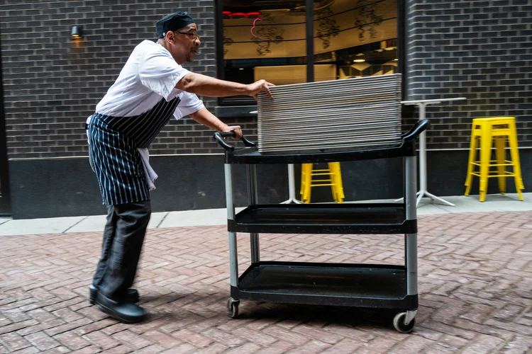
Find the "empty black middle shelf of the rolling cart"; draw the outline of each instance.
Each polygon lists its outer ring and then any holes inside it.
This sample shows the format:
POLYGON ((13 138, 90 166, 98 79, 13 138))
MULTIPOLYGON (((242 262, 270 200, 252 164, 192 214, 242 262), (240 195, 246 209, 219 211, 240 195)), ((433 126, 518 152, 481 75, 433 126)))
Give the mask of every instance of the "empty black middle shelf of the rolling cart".
POLYGON ((404 204, 250 205, 228 220, 230 232, 277 234, 412 234, 404 204))

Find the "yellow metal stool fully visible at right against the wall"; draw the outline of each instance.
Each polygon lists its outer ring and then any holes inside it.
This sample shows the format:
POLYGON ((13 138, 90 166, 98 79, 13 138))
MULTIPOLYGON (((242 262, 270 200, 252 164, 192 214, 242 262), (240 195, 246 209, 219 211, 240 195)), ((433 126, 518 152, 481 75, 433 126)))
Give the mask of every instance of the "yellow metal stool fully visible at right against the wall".
POLYGON ((506 177, 514 177, 519 200, 523 200, 521 190, 521 164, 517 150, 516 118, 475 118, 471 130, 471 144, 469 161, 467 163, 467 178, 465 179, 465 195, 469 195, 473 176, 480 177, 480 201, 484 202, 487 193, 488 178, 499 178, 499 191, 506 193, 506 177), (495 160, 492 160, 492 139, 495 142, 495 160), (509 142, 511 159, 506 159, 506 139, 509 142), (480 140, 480 161, 477 157, 477 147, 480 140), (478 166, 477 169, 475 166, 478 166), (506 171, 506 166, 513 166, 513 171, 506 171), (492 167, 497 167, 492 170, 492 167))

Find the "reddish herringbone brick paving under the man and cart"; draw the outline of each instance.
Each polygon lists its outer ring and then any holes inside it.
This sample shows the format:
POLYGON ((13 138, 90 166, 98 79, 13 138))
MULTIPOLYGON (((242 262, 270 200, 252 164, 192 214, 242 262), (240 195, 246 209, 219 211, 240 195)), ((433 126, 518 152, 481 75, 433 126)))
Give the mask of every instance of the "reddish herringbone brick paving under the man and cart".
MULTIPOLYGON (((99 233, 2 236, 1 353, 531 353, 532 212, 419 218, 413 333, 393 314, 242 302, 226 315, 225 227, 148 232, 136 286, 145 324, 87 302, 99 233)), ((239 237, 240 272, 249 239, 239 237)), ((261 235, 263 260, 401 263, 402 236, 261 235)))

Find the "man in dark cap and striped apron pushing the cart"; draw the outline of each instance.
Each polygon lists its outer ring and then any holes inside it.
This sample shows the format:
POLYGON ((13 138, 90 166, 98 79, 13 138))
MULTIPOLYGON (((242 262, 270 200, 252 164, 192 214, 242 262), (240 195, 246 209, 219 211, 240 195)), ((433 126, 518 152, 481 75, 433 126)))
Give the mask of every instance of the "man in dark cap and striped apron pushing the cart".
POLYGON ((197 98, 256 96, 270 86, 260 80, 238 84, 193 74, 181 65, 192 62, 201 44, 197 26, 187 12, 178 11, 155 25, 158 40, 141 42, 128 58, 118 79, 96 105, 87 122, 89 161, 99 181, 108 215, 101 258, 90 287, 89 301, 118 321, 142 321, 146 312, 134 304, 133 285, 146 227, 150 220, 149 185, 143 161, 145 148, 174 116, 189 115, 218 132, 235 132, 218 120, 197 98))

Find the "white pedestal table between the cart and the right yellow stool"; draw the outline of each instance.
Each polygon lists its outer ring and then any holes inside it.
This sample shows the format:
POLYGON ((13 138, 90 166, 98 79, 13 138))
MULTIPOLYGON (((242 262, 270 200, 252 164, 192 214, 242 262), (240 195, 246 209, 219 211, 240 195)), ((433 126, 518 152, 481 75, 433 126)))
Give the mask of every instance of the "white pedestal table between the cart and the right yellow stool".
MULTIPOLYGON (((417 105, 419 107, 419 120, 423 120, 426 118, 426 106, 436 103, 442 103, 442 102, 449 102, 449 101, 462 101, 467 98, 465 97, 457 97, 457 98, 441 98, 437 100, 419 100, 419 101, 401 101, 404 105, 417 105)), ((445 205, 450 205, 451 207, 454 207, 455 205, 452 202, 448 202, 447 200, 443 200, 442 198, 436 197, 436 195, 433 195, 431 193, 428 193, 427 190, 427 133, 425 130, 421 132, 419 135, 419 192, 417 193, 417 201, 416 206, 419 205, 419 202, 421 201, 421 198, 423 196, 427 196, 428 198, 431 198, 433 200, 437 200, 438 202, 443 202, 445 205)), ((398 200, 402 200, 398 199, 398 200)))

